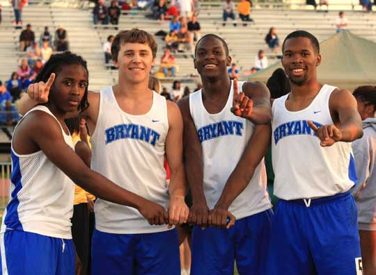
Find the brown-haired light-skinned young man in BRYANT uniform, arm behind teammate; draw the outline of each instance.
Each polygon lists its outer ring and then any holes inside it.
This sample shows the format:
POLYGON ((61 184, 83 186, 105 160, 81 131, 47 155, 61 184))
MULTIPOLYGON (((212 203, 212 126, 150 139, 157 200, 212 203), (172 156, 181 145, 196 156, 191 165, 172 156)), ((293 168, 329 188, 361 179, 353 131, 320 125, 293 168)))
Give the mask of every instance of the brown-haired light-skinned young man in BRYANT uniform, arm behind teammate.
MULTIPOLYGON (((145 31, 118 33, 111 46, 118 84, 89 93, 90 105, 81 115, 91 133, 91 168, 169 208, 169 226, 151 226, 164 221, 148 221, 132 208, 97 200, 92 274, 180 274, 178 233, 169 229, 188 215, 182 117, 178 106, 148 89, 156 53, 157 43, 145 31), (171 169, 169 187, 165 154, 171 169)), ((36 83, 29 96, 39 102, 48 90, 45 83, 36 83)), ((22 109, 34 102, 24 102, 22 109)))

